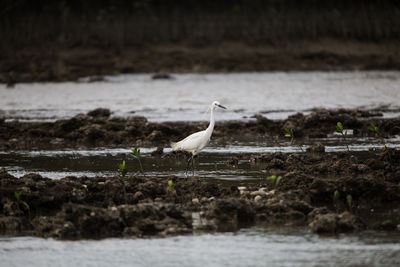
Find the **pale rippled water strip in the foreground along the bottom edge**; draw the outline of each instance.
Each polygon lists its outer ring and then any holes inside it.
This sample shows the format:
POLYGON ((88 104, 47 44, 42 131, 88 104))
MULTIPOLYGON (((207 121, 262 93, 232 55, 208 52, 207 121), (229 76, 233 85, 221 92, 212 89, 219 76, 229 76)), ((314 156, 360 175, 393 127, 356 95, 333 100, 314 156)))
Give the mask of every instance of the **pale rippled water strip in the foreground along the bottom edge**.
POLYGON ((0 238, 0 266, 399 266, 400 233, 319 237, 304 228, 151 239, 0 238))

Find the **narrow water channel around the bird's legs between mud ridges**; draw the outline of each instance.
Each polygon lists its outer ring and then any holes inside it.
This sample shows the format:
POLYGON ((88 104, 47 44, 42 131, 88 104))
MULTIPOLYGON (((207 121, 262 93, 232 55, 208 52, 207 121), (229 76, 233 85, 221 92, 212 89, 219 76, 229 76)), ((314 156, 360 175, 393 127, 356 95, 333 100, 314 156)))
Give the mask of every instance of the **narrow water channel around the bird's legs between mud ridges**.
MULTIPOLYGON (((293 153, 302 152, 315 142, 325 145, 328 153, 347 151, 340 138, 332 137, 304 141, 302 146, 291 145, 277 140, 241 141, 233 143, 211 142, 196 159, 196 175, 204 179, 217 180, 257 180, 265 178, 265 166, 250 164, 249 160, 239 160, 237 166, 229 166, 226 161, 233 156, 261 153, 293 153)), ((380 150, 383 145, 376 138, 348 138, 348 148, 354 153, 363 153, 371 149, 380 150)), ((387 147, 400 148, 400 138, 384 140, 387 147)), ((156 148, 141 148, 142 164, 148 177, 185 177, 185 159, 161 159, 152 157, 151 152, 156 148)), ((170 148, 164 149, 169 153, 170 148)), ((114 176, 118 165, 126 160, 128 172, 139 170, 137 160, 133 159, 127 148, 95 148, 74 150, 32 150, 0 152, 0 166, 11 175, 21 177, 28 173, 37 173, 44 177, 60 179, 65 176, 96 177, 114 176)), ((247 157, 248 158, 248 157, 247 157)))

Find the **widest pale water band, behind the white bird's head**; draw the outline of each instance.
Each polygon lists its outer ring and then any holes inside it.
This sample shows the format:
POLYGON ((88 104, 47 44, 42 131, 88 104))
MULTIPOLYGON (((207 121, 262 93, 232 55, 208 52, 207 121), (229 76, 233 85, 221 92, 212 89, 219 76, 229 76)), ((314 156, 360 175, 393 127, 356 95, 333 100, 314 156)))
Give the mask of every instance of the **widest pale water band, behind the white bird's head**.
POLYGON ((282 119, 312 108, 383 109, 399 115, 400 72, 269 72, 106 77, 102 82, 0 84, 0 116, 21 120, 70 118, 98 107, 113 116, 143 115, 150 121, 207 120, 219 100, 229 109, 217 120, 243 120, 255 113, 282 119))

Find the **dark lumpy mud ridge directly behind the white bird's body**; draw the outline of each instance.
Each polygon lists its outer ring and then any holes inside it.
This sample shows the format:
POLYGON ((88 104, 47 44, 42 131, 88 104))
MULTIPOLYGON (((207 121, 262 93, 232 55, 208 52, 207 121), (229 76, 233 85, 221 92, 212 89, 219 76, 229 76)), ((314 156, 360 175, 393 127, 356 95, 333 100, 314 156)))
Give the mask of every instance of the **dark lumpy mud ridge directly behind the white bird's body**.
MULTIPOLYGON (((308 115, 298 113, 285 120, 269 120, 256 114, 247 122, 218 122, 216 140, 284 139, 284 128, 293 129, 294 142, 310 138, 326 138, 342 122, 351 129, 349 137, 375 137, 368 130, 373 122, 380 129, 380 138, 400 133, 400 118, 383 119, 379 111, 316 109, 308 115)), ((19 122, 0 119, 0 149, 74 148, 74 147, 167 147, 187 135, 203 130, 208 122, 153 123, 141 116, 118 118, 108 109, 96 109, 71 119, 55 122, 19 122)))

